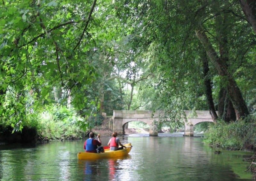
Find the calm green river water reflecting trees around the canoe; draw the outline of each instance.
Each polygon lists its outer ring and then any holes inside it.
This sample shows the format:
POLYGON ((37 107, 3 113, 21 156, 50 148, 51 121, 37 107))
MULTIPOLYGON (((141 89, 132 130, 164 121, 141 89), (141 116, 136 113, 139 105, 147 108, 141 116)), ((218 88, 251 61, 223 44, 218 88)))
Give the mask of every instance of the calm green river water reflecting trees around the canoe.
MULTIPOLYGON (((110 137, 101 141, 106 145, 110 137)), ((134 134, 119 137, 131 142, 128 156, 115 159, 77 160, 84 140, 54 141, 34 145, 0 144, 0 180, 252 180, 243 158, 250 152, 221 151, 200 137, 182 134, 134 134)))

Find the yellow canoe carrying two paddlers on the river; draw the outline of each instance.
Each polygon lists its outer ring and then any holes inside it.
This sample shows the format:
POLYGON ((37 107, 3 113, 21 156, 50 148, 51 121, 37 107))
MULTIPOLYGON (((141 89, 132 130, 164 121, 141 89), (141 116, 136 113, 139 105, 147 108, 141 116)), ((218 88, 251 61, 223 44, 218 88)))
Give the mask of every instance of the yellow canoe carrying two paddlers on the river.
POLYGON ((126 148, 116 150, 116 151, 110 151, 109 149, 105 149, 105 153, 86 153, 86 152, 78 152, 77 158, 78 160, 89 160, 89 159, 100 159, 100 158, 113 158, 118 156, 125 156, 128 155, 128 153, 132 149, 132 144, 124 144, 126 148))

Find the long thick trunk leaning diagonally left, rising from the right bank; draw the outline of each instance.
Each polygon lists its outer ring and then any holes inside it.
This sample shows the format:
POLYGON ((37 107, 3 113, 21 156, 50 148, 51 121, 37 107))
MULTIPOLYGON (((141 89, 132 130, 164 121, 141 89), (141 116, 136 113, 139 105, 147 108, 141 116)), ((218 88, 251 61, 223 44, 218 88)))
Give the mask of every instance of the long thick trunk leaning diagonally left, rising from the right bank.
POLYGON ((222 76, 223 79, 225 78, 225 81, 227 81, 227 90, 236 111, 236 119, 241 119, 242 117, 247 116, 249 112, 240 89, 237 87, 233 77, 229 75, 225 62, 219 58, 201 26, 197 27, 196 36, 204 46, 208 57, 212 61, 215 68, 218 70, 219 75, 222 76))

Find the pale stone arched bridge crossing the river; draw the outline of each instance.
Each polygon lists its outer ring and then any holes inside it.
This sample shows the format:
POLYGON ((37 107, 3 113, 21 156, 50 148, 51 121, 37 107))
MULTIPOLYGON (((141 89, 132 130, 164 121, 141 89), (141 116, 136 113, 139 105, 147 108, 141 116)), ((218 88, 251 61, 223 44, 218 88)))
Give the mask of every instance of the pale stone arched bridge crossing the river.
MULTIPOLYGON (((119 134, 124 134, 124 125, 131 121, 141 121, 149 125, 149 136, 157 136, 156 122, 159 120, 162 111, 126 111, 114 110, 113 111, 113 131, 119 134)), ((197 117, 191 115, 192 111, 184 110, 187 115, 187 122, 184 120, 185 132, 184 136, 194 136, 194 126, 201 122, 213 122, 209 111, 196 111, 197 117)))

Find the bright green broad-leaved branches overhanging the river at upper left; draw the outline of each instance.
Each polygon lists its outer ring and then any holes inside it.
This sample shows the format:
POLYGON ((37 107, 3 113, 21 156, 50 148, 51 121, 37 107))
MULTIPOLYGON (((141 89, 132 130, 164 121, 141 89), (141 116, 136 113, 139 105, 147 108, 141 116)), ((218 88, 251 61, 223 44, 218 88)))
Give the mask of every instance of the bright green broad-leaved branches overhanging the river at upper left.
POLYGON ((0 5, 0 102, 7 91, 15 99, 15 105, 0 110, 1 115, 12 119, 14 125, 22 125, 24 118, 18 114, 28 111, 22 109, 26 93, 33 90, 33 106, 41 106, 50 103, 47 99, 53 87, 66 92, 64 100, 72 97, 77 110, 84 108, 84 92, 97 75, 91 62, 97 51, 95 37, 106 41, 98 36, 97 29, 112 11, 112 6, 106 8, 109 4, 96 4, 94 0, 12 1, 0 5))

